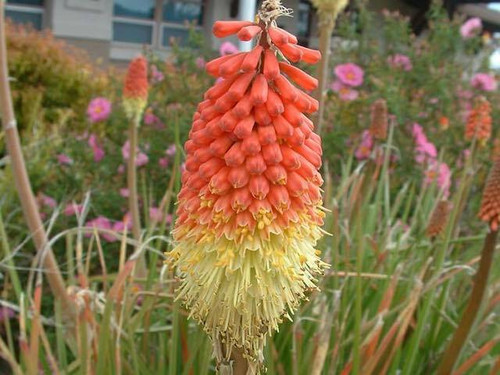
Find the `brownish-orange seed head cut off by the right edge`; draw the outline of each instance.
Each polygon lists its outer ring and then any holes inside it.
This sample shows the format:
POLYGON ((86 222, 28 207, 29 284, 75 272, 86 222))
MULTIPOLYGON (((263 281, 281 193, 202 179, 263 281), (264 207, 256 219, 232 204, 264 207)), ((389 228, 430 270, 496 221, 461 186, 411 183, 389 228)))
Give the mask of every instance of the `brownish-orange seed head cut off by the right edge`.
POLYGON ((495 161, 486 181, 479 218, 489 222, 492 230, 500 224, 500 158, 495 161))

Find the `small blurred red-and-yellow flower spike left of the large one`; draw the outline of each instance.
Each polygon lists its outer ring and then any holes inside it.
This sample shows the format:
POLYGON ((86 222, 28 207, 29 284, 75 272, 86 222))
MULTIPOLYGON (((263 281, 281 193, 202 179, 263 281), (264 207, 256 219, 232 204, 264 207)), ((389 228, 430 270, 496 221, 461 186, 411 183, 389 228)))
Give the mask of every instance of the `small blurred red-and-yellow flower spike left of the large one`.
POLYGON ((144 56, 130 62, 123 87, 123 108, 131 120, 139 120, 148 101, 148 63, 144 56))

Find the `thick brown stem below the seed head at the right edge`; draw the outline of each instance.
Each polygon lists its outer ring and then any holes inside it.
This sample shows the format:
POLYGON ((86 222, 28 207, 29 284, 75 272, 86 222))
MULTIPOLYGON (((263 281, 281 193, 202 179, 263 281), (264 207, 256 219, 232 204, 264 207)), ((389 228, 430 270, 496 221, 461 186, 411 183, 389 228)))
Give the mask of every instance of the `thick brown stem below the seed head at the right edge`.
POLYGON ((476 320, 486 287, 488 285, 488 277, 491 271, 491 265, 493 264, 493 255, 495 253, 497 235, 498 231, 490 231, 484 240, 479 269, 476 272, 474 287, 472 289, 469 302, 465 308, 464 314, 462 315, 462 319, 458 324, 458 328, 443 355, 443 360, 437 371, 438 375, 451 374, 453 367, 460 356, 460 352, 465 344, 465 341, 469 336, 472 325, 476 320))

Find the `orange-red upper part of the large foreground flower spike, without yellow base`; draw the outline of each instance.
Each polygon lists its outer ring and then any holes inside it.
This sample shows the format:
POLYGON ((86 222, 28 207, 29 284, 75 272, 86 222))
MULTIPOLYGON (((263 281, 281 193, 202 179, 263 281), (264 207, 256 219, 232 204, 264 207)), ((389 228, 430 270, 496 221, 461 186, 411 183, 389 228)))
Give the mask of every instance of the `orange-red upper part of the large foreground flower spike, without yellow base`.
POLYGON ((242 222, 255 229, 255 200, 282 228, 297 213, 321 223, 315 212, 321 201, 321 140, 303 114, 316 111, 318 102, 288 79, 307 91, 318 81, 279 61, 271 46, 293 62, 316 63, 321 54, 297 45, 297 38, 277 27, 220 21, 213 30, 219 37, 257 37, 258 45, 206 65, 209 74, 223 79, 206 92, 194 115, 177 226, 198 225, 202 218, 222 213, 222 222, 203 219, 204 224, 234 238, 242 222), (221 199, 225 204, 218 204, 221 199), (211 203, 203 205, 205 201, 211 203))

